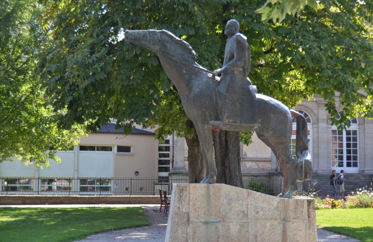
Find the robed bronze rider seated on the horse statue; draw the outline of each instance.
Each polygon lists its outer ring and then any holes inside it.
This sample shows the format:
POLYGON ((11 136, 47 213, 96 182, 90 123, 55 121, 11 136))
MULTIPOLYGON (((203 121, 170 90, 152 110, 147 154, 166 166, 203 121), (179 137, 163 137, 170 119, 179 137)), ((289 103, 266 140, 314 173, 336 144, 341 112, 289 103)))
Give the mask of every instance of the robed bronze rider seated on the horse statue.
POLYGON ((236 20, 227 22, 224 34, 228 39, 223 67, 214 71, 215 74, 221 74, 220 84, 217 87, 221 121, 210 123, 221 128, 228 124, 256 123, 256 113, 250 110, 250 107, 254 106, 252 103, 255 99, 254 93, 251 92, 254 87, 247 78, 251 69, 250 46, 247 44, 246 36, 239 31, 240 25, 236 20))

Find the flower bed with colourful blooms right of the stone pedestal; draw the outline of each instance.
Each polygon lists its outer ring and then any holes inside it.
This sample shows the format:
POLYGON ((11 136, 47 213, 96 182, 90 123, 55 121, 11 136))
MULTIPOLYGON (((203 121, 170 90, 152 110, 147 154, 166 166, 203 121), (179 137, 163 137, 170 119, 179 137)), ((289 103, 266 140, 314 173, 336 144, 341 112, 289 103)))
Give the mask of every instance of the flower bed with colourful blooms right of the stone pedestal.
POLYGON ((373 191, 371 189, 359 189, 356 193, 345 197, 336 197, 335 199, 315 198, 316 210, 334 209, 334 208, 371 208, 373 207, 373 191))

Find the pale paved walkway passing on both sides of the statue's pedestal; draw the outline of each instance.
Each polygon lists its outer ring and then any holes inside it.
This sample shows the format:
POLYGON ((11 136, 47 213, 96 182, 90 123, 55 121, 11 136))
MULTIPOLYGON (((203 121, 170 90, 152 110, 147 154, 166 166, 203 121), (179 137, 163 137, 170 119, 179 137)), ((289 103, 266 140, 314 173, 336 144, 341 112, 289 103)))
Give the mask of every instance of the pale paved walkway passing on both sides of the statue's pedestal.
MULTIPOLYGON (((159 212, 159 204, 142 205, 142 204, 107 204, 107 205, 12 205, 0 207, 143 207, 150 226, 138 228, 129 228, 115 230, 100 234, 90 235, 85 239, 79 240, 83 242, 106 242, 106 241, 128 241, 128 242, 164 242, 167 228, 168 216, 163 212, 159 212)), ((324 229, 317 229, 317 241, 319 242, 358 242, 359 240, 336 234, 324 229)))

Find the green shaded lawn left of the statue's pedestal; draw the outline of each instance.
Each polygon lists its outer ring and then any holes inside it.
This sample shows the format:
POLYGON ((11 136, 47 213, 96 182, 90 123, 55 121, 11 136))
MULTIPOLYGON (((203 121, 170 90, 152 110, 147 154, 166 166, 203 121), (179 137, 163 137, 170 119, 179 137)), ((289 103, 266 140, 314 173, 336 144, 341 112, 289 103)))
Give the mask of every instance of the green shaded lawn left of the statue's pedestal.
POLYGON ((0 241, 73 241, 149 225, 141 207, 0 208, 0 241))

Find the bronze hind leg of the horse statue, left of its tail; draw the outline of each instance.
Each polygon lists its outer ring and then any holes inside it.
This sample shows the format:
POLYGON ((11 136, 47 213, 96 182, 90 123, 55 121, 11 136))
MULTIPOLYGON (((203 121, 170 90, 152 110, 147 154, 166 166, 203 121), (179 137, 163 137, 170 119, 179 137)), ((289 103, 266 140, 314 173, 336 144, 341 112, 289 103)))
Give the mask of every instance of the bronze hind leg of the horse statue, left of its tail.
MULTIPOLYGON (((284 147, 273 145, 274 142, 272 139, 276 139, 276 137, 266 137, 261 132, 256 131, 257 136, 260 140, 262 140, 269 148, 271 148, 272 152, 278 159, 281 169, 284 174, 284 187, 282 192, 278 195, 278 197, 282 198, 291 198, 293 193, 298 189, 296 186, 296 170, 295 170, 295 159, 293 158, 289 144, 285 144, 284 147), (296 189, 296 190, 295 190, 296 189)), ((286 143, 286 142, 285 142, 286 143)))

